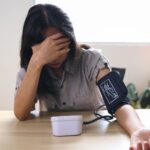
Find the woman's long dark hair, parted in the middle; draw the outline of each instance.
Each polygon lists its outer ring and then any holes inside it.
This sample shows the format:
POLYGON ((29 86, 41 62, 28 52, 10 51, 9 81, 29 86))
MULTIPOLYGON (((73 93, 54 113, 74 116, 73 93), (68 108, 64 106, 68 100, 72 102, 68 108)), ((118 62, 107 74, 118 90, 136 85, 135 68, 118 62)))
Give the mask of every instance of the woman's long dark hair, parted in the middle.
MULTIPOLYGON (((57 28, 70 39, 71 43, 68 59, 73 60, 75 57, 77 45, 74 30, 67 14, 57 6, 51 4, 34 5, 28 11, 22 33, 20 65, 25 68, 25 70, 32 56, 32 46, 44 40, 42 31, 49 27, 57 28)), ((48 68, 44 66, 40 76, 38 94, 52 92, 53 88, 48 87, 47 84, 47 82, 51 82, 50 80, 48 68), (49 91, 49 89, 51 91, 49 91)))

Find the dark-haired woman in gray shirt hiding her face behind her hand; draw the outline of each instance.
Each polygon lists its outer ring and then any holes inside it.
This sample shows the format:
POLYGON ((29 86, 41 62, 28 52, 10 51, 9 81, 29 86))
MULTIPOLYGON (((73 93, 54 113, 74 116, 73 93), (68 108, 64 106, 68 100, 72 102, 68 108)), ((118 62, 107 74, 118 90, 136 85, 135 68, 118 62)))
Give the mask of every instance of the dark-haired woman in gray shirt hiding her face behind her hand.
MULTIPOLYGON (((77 45, 71 22, 60 8, 30 8, 20 58, 14 103, 19 120, 28 118, 37 99, 41 110, 48 111, 95 110, 104 104, 97 83, 110 73, 109 62, 100 52, 77 45)), ((124 103, 114 113, 131 136, 130 150, 150 149, 150 130, 134 109, 124 103)))

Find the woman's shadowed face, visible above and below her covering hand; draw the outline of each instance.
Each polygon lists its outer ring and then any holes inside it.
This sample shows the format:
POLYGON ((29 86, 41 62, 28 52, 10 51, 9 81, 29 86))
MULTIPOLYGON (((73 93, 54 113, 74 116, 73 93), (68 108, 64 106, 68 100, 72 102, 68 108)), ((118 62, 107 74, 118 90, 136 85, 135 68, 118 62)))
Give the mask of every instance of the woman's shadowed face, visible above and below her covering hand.
MULTIPOLYGON (((47 38, 47 37, 52 36, 53 34, 56 34, 56 33, 59 33, 59 32, 60 31, 57 28, 50 27, 50 28, 44 30, 42 33, 43 33, 44 38, 47 38)), ((68 46, 68 48, 69 48, 69 46, 68 46)), ((60 68, 62 66, 62 64, 64 63, 64 61, 66 60, 67 55, 68 55, 68 53, 60 56, 55 61, 49 63, 49 66, 51 68, 54 68, 54 69, 60 68)))

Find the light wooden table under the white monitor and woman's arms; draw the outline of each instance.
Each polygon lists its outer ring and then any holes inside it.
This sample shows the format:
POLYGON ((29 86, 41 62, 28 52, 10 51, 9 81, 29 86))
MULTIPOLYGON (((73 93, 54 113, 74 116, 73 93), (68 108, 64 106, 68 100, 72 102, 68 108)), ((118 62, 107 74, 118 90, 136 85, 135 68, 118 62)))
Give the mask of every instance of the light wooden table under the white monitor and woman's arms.
MULTIPOLYGON (((150 127, 150 109, 137 110, 137 113, 150 127)), ((68 114, 82 114, 84 120, 93 118, 90 112, 68 114)), ((49 118, 60 113, 33 112, 33 115, 34 119, 20 122, 12 111, 0 111, 0 150, 128 150, 130 138, 116 121, 100 120, 84 125, 79 136, 55 137, 49 118)))

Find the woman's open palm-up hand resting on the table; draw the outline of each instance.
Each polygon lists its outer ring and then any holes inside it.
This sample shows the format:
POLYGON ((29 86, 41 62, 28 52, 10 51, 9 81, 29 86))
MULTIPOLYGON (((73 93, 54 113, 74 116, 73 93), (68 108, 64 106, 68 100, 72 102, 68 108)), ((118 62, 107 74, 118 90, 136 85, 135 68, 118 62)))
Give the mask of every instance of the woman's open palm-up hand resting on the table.
POLYGON ((129 150, 150 150, 150 129, 139 129, 131 135, 129 150))

